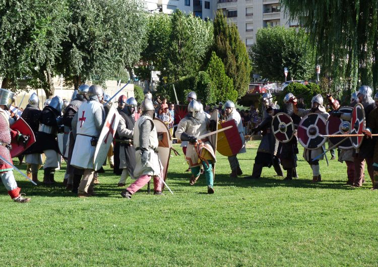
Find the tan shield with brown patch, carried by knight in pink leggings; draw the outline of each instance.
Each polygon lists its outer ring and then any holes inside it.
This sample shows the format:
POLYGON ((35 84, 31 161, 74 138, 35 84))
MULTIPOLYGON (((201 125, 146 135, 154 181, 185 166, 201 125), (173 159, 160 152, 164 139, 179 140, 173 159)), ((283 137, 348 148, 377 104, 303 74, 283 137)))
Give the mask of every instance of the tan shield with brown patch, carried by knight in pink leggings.
MULTIPOLYGON (((169 132, 167 124, 165 124, 161 119, 154 118, 154 125, 156 127, 159 146, 155 150, 159 156, 161 165, 163 165, 163 179, 164 181, 167 178, 169 159, 171 156, 171 147, 172 147, 172 136, 169 132)), ((162 185, 162 189, 164 184, 162 185)))

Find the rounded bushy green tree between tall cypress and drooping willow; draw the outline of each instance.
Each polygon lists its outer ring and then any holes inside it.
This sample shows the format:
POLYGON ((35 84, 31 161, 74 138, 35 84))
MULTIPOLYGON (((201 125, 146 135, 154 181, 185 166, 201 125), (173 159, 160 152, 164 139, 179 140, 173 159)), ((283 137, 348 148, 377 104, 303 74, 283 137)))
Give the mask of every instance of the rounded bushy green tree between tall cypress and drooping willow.
POLYGON ((272 81, 282 81, 284 68, 288 78, 308 80, 314 75, 314 53, 303 29, 284 26, 261 28, 250 48, 254 70, 272 81))

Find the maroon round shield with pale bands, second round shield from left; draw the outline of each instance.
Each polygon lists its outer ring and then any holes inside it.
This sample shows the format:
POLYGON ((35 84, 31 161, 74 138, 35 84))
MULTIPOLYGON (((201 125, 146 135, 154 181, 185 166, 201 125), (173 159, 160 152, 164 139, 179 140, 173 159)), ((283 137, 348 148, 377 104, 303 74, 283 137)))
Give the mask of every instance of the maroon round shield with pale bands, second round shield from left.
POLYGON ((326 119, 317 113, 305 115, 298 125, 298 141, 306 149, 318 149, 326 142, 326 119))

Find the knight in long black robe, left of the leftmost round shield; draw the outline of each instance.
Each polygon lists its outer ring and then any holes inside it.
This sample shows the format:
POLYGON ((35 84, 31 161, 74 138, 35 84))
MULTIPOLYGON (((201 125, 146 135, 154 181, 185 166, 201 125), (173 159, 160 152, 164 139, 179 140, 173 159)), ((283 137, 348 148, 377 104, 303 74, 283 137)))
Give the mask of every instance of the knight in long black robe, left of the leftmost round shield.
POLYGON ((263 167, 272 167, 276 171, 278 176, 283 176, 279 158, 275 155, 276 150, 276 138, 271 130, 272 115, 269 114, 267 108, 276 108, 276 105, 272 102, 272 95, 265 93, 260 99, 262 103, 262 122, 252 129, 252 132, 262 132, 263 139, 260 142, 257 150, 255 164, 253 167, 252 175, 246 177, 247 179, 259 179, 263 171, 263 167))

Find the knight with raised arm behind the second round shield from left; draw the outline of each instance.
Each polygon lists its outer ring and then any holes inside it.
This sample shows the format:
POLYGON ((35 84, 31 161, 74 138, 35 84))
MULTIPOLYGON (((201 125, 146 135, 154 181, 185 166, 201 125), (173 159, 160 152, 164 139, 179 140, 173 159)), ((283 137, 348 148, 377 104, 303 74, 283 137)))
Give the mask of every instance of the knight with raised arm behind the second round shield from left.
MULTIPOLYGON (((295 114, 297 114, 299 117, 304 117, 309 113, 317 113, 323 116, 326 120, 329 117, 329 113, 326 111, 326 108, 323 106, 323 97, 321 94, 318 94, 314 96, 311 99, 311 108, 309 109, 302 109, 297 107, 297 99, 295 96, 290 97, 289 101, 293 104, 293 111, 295 114)), ((320 147, 318 149, 307 149, 304 148, 303 150, 303 158, 307 161, 307 163, 310 165, 312 170, 312 182, 321 182, 322 181, 322 175, 320 173, 320 166, 319 166, 319 159, 318 160, 312 160, 319 156, 320 154, 323 154, 324 147, 320 147)), ((320 157, 320 159, 323 159, 324 156, 320 157)))

